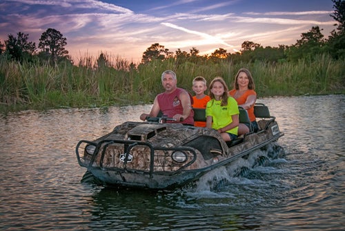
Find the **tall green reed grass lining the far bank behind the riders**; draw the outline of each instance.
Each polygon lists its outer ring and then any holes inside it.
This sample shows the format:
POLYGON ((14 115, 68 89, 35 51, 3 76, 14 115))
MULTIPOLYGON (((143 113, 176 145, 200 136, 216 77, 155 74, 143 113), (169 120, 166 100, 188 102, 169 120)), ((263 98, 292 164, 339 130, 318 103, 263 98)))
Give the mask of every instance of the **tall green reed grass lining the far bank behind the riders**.
MULTIPOLYGON (((151 103, 161 92, 161 73, 174 70, 177 85, 192 94, 193 78, 203 76, 208 83, 223 77, 233 88, 239 68, 253 74, 258 97, 291 96, 301 94, 344 94, 344 60, 335 61, 323 54, 313 61, 297 63, 242 62, 221 60, 185 61, 175 59, 151 61, 133 68, 118 57, 112 67, 95 68, 92 57, 85 57, 79 66, 71 63, 18 63, 0 56, 0 110, 98 107, 151 103)), ((207 92, 206 92, 207 93, 207 92)))

